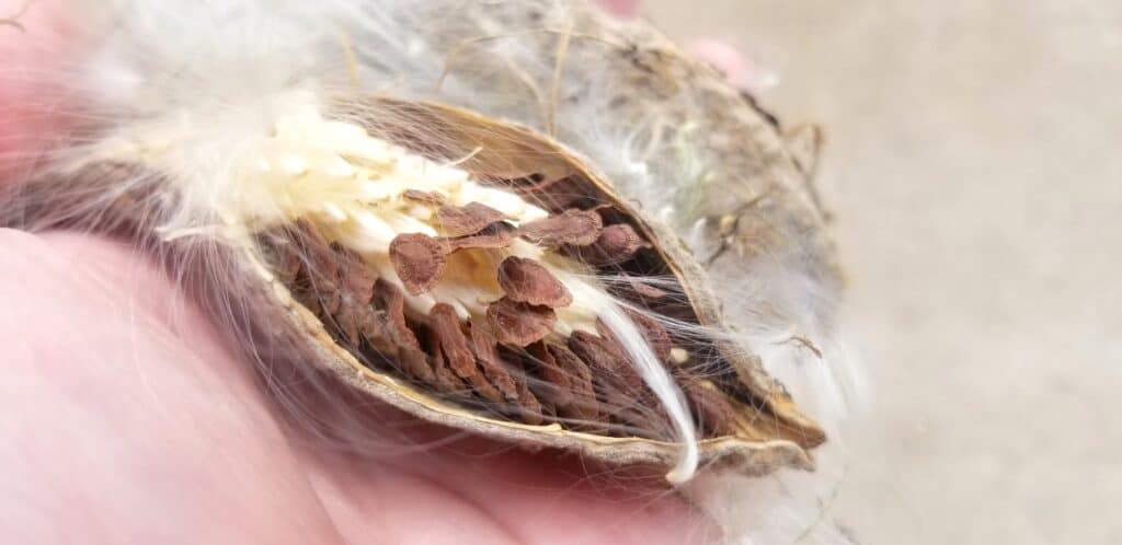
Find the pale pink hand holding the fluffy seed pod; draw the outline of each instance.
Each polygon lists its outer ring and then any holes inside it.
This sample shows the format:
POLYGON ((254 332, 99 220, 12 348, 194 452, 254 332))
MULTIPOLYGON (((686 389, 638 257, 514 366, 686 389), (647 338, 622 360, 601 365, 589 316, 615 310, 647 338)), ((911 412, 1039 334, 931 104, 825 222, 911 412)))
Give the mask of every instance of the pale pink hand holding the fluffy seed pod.
MULTIPOLYGON (((636 1, 606 1, 632 16, 636 1)), ((0 17, 22 1, 0 1, 0 17)), ((49 2, 0 26, 3 71, 53 62, 49 2)), ((66 55, 65 39, 54 50, 66 55)), ((28 73, 31 73, 28 72, 28 73)), ((3 80, 0 80, 2 82, 3 80)), ((0 183, 57 120, 0 86, 0 183)), ((579 460, 457 440, 376 459, 293 431, 257 370, 145 256, 0 230, 0 542, 680 544, 718 533, 678 496, 579 460)), ((398 429, 413 425, 374 408, 398 429)), ((423 429, 425 437, 449 431, 423 429)))

